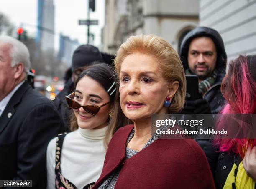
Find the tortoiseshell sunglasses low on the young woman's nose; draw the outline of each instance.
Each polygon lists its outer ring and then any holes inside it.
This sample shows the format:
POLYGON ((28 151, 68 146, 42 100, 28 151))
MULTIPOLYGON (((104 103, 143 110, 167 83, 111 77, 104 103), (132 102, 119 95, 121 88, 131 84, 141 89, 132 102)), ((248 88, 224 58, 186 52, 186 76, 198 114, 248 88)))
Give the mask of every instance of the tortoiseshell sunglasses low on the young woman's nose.
POLYGON ((70 109, 78 109, 80 107, 82 107, 84 109, 84 111, 88 112, 89 114, 95 116, 99 111, 100 108, 109 104, 110 102, 107 102, 105 104, 102 104, 101 106, 97 106, 97 105, 85 105, 82 106, 81 104, 79 104, 78 102, 76 102, 74 100, 75 97, 75 92, 72 92, 71 94, 69 94, 66 98, 67 104, 69 105, 70 109))

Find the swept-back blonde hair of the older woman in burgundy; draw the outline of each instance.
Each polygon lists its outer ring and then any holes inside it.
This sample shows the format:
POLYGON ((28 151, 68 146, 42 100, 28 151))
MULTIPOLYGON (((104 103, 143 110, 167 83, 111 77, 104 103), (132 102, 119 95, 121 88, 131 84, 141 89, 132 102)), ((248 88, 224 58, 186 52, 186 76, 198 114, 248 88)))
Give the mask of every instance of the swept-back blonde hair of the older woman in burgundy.
POLYGON ((115 71, 120 81, 120 70, 123 60, 126 56, 133 53, 143 53, 153 55, 159 63, 159 70, 162 76, 170 84, 174 81, 179 82, 179 88, 174 94, 168 113, 179 112, 185 102, 186 97, 186 79, 182 62, 179 55, 172 46, 161 37, 155 35, 136 35, 131 36, 118 49, 114 60, 115 71))

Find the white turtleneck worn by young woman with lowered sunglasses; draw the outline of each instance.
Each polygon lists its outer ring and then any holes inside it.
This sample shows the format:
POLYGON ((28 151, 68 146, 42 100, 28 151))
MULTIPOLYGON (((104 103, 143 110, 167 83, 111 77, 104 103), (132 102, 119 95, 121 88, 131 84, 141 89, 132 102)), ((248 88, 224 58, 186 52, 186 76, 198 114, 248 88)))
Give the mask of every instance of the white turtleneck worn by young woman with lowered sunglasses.
MULTIPOLYGON (((78 189, 100 177, 106 150, 103 139, 107 127, 77 129, 64 138, 61 152, 61 174, 78 189)), ((47 147, 47 189, 55 189, 56 138, 47 147)))

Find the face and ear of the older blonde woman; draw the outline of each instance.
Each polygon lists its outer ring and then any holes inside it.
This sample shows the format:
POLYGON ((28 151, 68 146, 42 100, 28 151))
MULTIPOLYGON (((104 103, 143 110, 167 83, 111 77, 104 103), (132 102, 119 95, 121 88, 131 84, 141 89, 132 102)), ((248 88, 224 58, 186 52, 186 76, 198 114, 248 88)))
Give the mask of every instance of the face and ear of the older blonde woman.
POLYGON ((142 53, 128 55, 120 70, 119 92, 123 113, 132 121, 167 113, 164 101, 167 96, 172 99, 178 86, 178 82, 168 86, 154 56, 142 53))

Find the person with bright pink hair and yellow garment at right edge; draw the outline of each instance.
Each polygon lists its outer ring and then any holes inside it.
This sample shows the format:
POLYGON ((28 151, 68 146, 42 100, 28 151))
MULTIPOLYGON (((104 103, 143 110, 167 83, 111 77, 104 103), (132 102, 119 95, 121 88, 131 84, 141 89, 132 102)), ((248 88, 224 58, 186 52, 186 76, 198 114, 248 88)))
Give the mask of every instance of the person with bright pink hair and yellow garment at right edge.
MULTIPOLYGON (((256 55, 240 55, 230 62, 221 92, 228 101, 221 111, 222 114, 256 113, 256 55)), ((220 119, 218 129, 224 127, 222 121, 225 120, 220 119)), ((220 152, 213 172, 216 188, 254 189, 256 139, 240 136, 233 139, 214 139, 213 143, 220 152)), ((209 154, 207 158, 208 161, 211 159, 209 154)))

